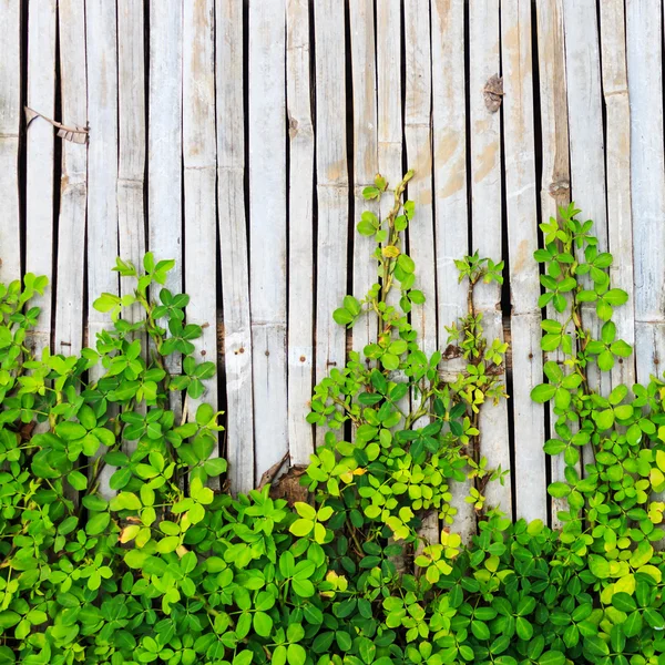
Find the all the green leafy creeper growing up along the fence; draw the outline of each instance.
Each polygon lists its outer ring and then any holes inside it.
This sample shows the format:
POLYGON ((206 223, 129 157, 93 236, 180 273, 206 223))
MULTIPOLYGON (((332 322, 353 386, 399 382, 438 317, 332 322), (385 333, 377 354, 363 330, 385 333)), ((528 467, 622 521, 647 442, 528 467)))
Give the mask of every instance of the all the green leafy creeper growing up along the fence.
MULTIPOLYGON (((566 471, 550 493, 567 507, 561 532, 511 523, 484 507, 485 483, 504 473, 479 446, 480 409, 505 397, 507 347, 484 339, 473 307, 474 286, 501 283, 503 265, 458 262, 469 307, 446 356, 466 367, 443 380, 446 360, 420 350, 409 323, 423 299, 400 235, 415 215, 402 204, 410 176, 386 219, 365 213, 358 225, 376 239, 378 283, 335 318, 376 317, 377 341, 316 387, 308 420, 329 431, 303 475, 311 501, 294 507, 269 487, 214 490, 221 413, 190 400, 215 367, 192 354, 201 328, 187 296, 161 288, 173 262, 119 259, 135 288, 95 301, 112 327, 72 357, 35 358, 27 342, 43 278, 0 286, 0 664, 665 663, 665 561, 653 546, 665 504, 652 493, 665 489, 665 383, 602 397, 587 374, 626 357, 610 327, 607 307, 625 300, 612 257, 573 207, 543 225, 541 304, 560 316, 543 321, 542 344, 562 360, 533 398, 554 402, 545 450, 566 471), (595 303, 597 340, 583 303, 595 303), (168 371, 172 354, 182 375, 168 371), (479 520, 467 546, 450 493, 469 479, 479 520), (437 542, 418 531, 430 513, 444 524, 437 542)), ((366 196, 387 187, 378 176, 366 196)))

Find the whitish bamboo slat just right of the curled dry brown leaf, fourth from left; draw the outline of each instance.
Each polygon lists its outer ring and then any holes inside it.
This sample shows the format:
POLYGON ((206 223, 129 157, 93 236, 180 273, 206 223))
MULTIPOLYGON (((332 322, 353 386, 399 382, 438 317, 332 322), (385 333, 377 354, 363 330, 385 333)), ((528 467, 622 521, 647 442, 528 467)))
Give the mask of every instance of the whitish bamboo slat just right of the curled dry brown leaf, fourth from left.
MULTIPOLYGON (((115 2, 85 3, 88 65, 88 337, 110 323, 92 307, 102 293, 117 294, 117 41, 115 2)), ((80 245, 79 245, 80 247, 80 245)), ((80 250, 80 249, 79 249, 80 250)), ((101 368, 100 368, 101 369, 101 368)))

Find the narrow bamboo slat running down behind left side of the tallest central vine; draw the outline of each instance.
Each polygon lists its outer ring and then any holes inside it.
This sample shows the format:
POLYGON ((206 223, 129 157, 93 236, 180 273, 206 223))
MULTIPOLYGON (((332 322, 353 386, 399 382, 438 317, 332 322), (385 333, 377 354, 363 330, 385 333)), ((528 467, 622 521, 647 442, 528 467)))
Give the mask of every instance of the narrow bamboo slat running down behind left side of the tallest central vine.
MULTIPOLYGON (((365 211, 379 214, 376 202, 366 201, 362 190, 372 185, 379 171, 377 133, 377 68, 375 50, 375 13, 372 0, 351 0, 351 70, 354 92, 354 221, 365 211)), ((361 298, 377 282, 377 262, 371 257, 374 238, 354 233, 354 294, 361 298)), ((354 350, 376 339, 377 317, 364 316, 352 329, 354 350)))

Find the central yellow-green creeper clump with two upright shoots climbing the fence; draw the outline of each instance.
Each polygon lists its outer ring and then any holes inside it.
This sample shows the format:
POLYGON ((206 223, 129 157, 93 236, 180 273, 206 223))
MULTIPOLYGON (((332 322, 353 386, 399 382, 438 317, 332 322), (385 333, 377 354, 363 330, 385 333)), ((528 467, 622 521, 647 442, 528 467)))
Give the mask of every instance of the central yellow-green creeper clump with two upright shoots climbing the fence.
MULTIPOLYGON (((505 397, 500 379, 508 345, 500 340, 488 345, 482 315, 473 307, 474 286, 481 280, 501 283, 503 264, 478 254, 458 262, 460 282, 469 285, 468 313, 449 328, 454 352, 446 359, 441 351, 428 356, 409 321, 412 306, 424 301, 415 288, 416 264, 403 243, 416 211, 413 202, 403 201, 412 175, 407 173, 389 193, 392 207, 385 219, 362 213, 358 232, 376 242, 378 282, 362 299, 346 296, 334 313, 335 320, 348 327, 360 317, 372 317, 377 341, 362 354, 349 354, 346 367, 334 369, 315 387, 308 417, 330 431, 303 482, 317 502, 332 508, 330 528, 347 530, 358 552, 359 543, 376 540, 385 526, 396 541, 417 544, 422 516, 430 512, 452 524, 457 512, 450 504, 452 482, 475 480, 468 500, 480 512, 485 483, 504 475, 501 469, 488 469, 480 457, 478 422, 485 401, 505 397), (392 297, 395 288, 399 297, 392 297), (440 371, 450 356, 467 360, 453 381, 444 380, 440 371), (347 422, 350 441, 340 436, 347 422)), ((385 178, 377 176, 364 194, 372 201, 387 194, 385 178)), ((319 530, 319 542, 323 533, 319 530)), ((447 570, 444 560, 427 574, 433 577, 438 570, 447 570)))

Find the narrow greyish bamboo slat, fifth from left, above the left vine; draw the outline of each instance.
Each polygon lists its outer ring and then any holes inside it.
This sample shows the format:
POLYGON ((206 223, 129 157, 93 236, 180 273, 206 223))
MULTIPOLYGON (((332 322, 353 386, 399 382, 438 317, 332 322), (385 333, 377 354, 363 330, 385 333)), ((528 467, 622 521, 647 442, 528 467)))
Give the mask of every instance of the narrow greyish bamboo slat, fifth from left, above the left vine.
MULTIPOLYGON (((145 254, 145 54, 143 4, 117 0, 117 229, 120 256, 142 267, 145 254)), ((121 279, 121 295, 132 280, 121 279)), ((123 316, 140 317, 139 307, 123 316)))

